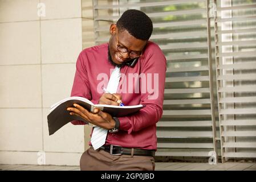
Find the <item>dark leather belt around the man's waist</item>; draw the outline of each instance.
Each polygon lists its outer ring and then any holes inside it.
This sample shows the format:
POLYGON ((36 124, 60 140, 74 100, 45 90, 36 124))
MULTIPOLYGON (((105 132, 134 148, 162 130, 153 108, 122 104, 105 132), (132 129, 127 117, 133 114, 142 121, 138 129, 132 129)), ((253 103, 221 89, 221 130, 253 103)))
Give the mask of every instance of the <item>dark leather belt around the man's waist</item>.
MULTIPOLYGON (((102 146, 100 149, 109 152, 111 155, 131 155, 132 154, 132 148, 126 148, 121 146, 102 146)), ((143 156, 155 156, 155 150, 144 150, 139 148, 133 148, 133 155, 143 155, 143 156)))

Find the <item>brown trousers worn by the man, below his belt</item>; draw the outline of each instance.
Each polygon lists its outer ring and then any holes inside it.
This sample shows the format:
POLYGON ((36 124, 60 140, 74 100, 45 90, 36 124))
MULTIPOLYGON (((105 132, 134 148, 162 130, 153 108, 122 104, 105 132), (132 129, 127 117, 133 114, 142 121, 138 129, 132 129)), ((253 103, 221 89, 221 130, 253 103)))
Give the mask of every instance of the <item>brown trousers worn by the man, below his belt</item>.
POLYGON ((80 159, 81 171, 154 171, 155 158, 139 155, 111 155, 89 148, 80 159))

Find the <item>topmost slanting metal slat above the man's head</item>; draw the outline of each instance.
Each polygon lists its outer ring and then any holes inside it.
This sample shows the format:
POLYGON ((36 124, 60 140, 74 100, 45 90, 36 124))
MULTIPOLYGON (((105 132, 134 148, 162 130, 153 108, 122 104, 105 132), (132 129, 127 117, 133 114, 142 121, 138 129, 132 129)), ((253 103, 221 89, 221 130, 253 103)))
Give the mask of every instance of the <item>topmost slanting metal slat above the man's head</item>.
POLYGON ((123 5, 95 5, 94 9, 119 9, 119 8, 127 8, 127 7, 151 7, 151 6, 165 6, 165 5, 176 5, 182 3, 189 2, 204 2, 204 0, 178 0, 178 1, 160 1, 160 2, 147 2, 147 3, 126 3, 123 5))

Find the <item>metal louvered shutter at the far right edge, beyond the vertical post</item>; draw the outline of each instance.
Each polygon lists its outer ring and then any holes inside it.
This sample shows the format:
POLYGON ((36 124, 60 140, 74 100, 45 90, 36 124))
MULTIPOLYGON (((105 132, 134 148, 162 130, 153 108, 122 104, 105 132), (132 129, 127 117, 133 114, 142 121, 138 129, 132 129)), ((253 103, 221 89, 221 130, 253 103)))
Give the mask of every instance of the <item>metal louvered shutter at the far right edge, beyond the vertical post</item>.
POLYGON ((256 158, 256 1, 214 1, 222 161, 256 158))

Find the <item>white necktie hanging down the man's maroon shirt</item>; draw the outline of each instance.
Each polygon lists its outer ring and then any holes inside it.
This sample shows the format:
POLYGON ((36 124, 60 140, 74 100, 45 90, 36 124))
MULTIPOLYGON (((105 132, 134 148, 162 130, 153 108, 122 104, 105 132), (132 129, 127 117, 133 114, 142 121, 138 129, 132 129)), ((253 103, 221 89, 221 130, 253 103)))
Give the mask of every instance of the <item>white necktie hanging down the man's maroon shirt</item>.
MULTIPOLYGON (((111 73, 111 76, 108 81, 107 91, 109 93, 116 93, 120 81, 120 76, 120 68, 116 67, 111 73)), ((108 130, 106 129, 103 129, 99 126, 94 127, 94 131, 92 132, 91 137, 91 143, 92 147, 94 147, 94 150, 97 150, 98 148, 103 146, 103 144, 105 144, 107 133, 108 130)))

